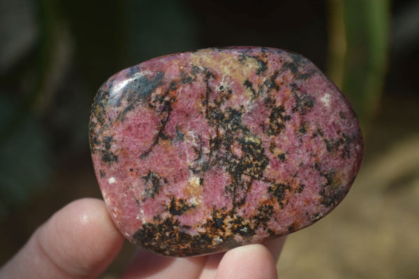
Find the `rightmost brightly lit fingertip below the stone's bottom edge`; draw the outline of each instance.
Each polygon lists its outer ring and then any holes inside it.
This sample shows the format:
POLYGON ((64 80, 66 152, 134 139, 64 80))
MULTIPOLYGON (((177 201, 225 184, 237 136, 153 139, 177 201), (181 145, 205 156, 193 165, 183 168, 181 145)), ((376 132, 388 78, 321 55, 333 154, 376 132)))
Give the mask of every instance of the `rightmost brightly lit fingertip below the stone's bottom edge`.
POLYGON ((216 271, 216 279, 277 279, 277 267, 264 245, 245 245, 226 252, 216 271))

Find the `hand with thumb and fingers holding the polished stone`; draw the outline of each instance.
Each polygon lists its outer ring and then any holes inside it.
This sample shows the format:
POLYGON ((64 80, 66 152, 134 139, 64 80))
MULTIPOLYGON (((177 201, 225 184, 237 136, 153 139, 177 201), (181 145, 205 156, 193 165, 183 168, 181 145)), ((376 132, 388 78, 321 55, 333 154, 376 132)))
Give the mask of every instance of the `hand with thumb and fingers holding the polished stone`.
MULTIPOLYGON (((172 258, 139 249, 122 278, 277 278, 285 238, 202 257, 172 258)), ((55 213, 0 269, 0 278, 96 278, 124 243, 98 199, 55 213)))

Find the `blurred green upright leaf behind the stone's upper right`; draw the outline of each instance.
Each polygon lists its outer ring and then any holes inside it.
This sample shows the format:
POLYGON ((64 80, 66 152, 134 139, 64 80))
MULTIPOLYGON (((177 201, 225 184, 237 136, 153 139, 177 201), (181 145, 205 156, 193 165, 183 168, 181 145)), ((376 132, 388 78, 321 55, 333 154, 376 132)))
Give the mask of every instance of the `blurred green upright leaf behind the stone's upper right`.
POLYGON ((388 70, 390 1, 330 0, 329 13, 328 73, 366 128, 388 70))

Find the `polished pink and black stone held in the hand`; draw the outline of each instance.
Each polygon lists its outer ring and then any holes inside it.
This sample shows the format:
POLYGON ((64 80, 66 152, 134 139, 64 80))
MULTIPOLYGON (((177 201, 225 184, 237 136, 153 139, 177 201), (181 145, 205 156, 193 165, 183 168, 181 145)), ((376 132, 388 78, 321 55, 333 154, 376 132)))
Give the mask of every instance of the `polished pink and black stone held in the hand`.
POLYGON ((313 224, 344 199, 360 126, 308 59, 210 48, 149 60, 98 90, 90 148, 103 199, 136 245, 187 257, 313 224))

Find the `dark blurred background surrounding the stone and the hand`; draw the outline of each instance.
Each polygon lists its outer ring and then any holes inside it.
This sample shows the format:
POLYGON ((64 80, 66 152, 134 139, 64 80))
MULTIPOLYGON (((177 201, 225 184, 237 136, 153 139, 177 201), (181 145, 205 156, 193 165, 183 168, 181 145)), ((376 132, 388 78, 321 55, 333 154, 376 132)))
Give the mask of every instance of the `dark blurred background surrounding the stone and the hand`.
MULTIPOLYGON (((109 76, 173 52, 299 52, 348 96, 365 159, 341 205, 288 237, 280 278, 419 278, 419 1, 0 0, 0 265, 54 211, 101 198, 91 100, 109 76)), ((134 248, 103 278, 116 278, 134 248)))

